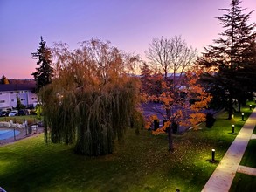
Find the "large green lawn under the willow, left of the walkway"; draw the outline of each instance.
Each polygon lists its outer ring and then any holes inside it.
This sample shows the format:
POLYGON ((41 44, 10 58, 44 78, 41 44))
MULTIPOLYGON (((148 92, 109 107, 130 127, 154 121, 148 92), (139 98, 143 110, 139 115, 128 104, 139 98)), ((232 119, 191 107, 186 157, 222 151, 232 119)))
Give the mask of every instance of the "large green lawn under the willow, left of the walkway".
MULTIPOLYGON (((245 113, 245 120, 249 115, 245 113)), ((236 117, 237 116, 237 117, 236 117)), ((73 146, 45 144, 44 136, 0 147, 0 186, 7 191, 201 191, 245 121, 218 113, 214 127, 204 125, 174 138, 128 129, 114 154, 85 157, 73 146), (211 163, 211 149, 216 163, 211 163)))

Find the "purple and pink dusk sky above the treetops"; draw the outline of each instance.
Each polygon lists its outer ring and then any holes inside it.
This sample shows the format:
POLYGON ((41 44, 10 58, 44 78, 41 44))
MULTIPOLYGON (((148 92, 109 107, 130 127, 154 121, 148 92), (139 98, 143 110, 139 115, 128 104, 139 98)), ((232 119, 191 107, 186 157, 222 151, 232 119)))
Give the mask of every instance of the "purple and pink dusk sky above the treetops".
MULTIPOLYGON (((46 45, 62 41, 71 49, 91 38, 140 54, 152 38, 181 35, 203 51, 222 31, 218 19, 231 0, 0 0, 0 76, 31 79, 40 36, 46 45)), ((246 13, 256 0, 243 0, 246 13)), ((250 24, 256 22, 256 12, 250 24)))

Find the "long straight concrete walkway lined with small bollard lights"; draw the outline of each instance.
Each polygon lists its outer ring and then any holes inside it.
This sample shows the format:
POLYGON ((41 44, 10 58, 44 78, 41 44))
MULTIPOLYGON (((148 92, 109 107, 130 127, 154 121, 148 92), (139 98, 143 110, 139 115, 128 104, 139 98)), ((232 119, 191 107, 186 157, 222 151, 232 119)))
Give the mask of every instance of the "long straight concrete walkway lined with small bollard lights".
POLYGON ((256 124, 256 108, 250 115, 244 127, 241 128, 236 139, 232 142, 218 167, 206 182, 203 192, 228 192, 234 176, 239 168, 239 163, 246 151, 248 141, 251 139, 256 124))

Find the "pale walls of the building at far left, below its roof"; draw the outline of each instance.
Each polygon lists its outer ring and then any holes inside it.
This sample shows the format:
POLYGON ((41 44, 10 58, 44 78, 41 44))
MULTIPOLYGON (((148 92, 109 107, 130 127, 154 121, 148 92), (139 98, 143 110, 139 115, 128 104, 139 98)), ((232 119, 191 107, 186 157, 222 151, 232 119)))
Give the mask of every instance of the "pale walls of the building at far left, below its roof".
POLYGON ((17 96, 24 106, 37 103, 38 96, 29 90, 0 92, 0 108, 14 108, 17 106, 17 96))

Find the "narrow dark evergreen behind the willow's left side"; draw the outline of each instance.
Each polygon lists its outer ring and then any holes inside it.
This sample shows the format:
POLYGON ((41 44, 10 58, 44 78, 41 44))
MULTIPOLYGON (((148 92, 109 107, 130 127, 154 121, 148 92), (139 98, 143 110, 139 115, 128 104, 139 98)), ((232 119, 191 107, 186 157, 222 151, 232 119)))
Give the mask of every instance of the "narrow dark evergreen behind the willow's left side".
POLYGON ((52 52, 45 46, 45 44, 46 42, 43 37, 41 37, 41 42, 39 43, 37 52, 31 53, 33 59, 38 59, 38 67, 36 68, 37 72, 33 72, 31 74, 34 76, 36 81, 37 91, 52 82, 52 52))

